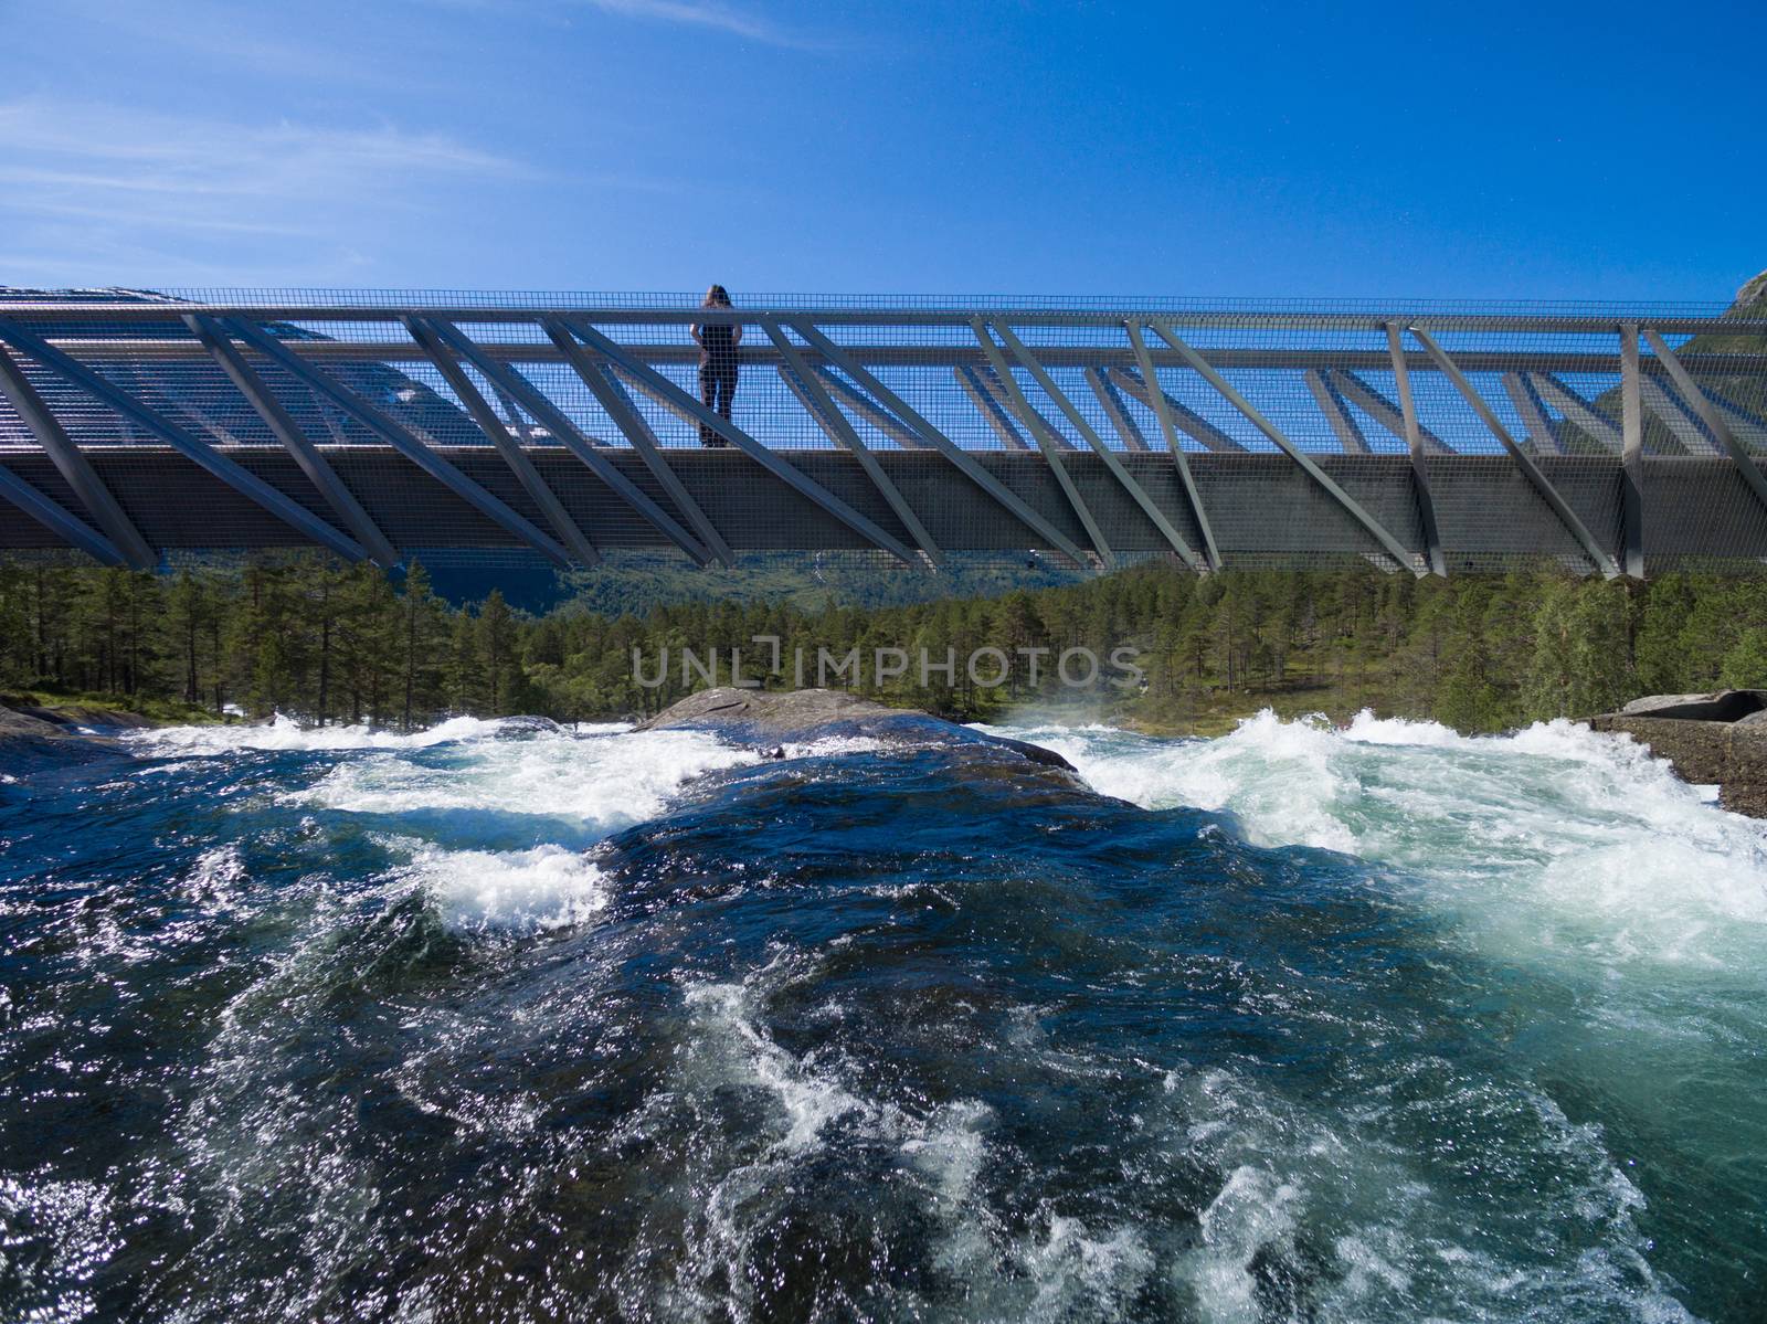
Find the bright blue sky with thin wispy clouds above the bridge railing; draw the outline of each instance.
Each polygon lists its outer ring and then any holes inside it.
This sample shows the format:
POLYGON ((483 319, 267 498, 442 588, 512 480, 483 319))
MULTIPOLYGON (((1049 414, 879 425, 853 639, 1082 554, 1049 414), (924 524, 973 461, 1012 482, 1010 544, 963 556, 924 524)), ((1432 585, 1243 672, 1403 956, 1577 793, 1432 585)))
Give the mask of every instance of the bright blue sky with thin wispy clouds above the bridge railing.
POLYGON ((1767 4, 0 0, 0 283, 1726 299, 1767 4))

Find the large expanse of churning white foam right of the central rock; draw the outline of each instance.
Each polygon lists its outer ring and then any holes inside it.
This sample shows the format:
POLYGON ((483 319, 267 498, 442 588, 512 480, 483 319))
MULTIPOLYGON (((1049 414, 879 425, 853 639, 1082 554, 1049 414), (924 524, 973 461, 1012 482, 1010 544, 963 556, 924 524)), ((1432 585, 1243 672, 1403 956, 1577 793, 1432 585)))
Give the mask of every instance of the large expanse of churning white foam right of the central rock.
POLYGON ((1007 730, 1147 808, 1225 810, 1258 845, 1403 866, 1505 955, 1762 965, 1767 827, 1714 808, 1626 735, 1571 721, 1460 735, 1433 721, 1265 711, 1216 741, 1007 730))

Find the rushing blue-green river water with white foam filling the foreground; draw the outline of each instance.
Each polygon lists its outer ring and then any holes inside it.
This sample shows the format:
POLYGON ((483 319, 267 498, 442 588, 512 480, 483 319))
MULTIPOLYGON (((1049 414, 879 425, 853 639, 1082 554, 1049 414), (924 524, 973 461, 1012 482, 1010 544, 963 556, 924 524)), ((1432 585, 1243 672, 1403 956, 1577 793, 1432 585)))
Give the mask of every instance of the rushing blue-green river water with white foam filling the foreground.
POLYGON ((0 1317, 1758 1319, 1767 854, 1617 737, 0 781, 0 1317))

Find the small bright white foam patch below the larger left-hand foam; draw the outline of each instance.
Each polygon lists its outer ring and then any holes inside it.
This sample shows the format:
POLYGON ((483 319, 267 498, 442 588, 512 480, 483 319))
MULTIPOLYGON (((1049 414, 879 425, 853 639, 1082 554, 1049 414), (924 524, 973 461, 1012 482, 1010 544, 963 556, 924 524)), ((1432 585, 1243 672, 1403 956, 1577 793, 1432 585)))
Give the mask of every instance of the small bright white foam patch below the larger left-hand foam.
POLYGON ((449 928, 537 932, 573 928, 608 905, 606 879, 578 850, 417 852, 406 877, 429 894, 449 928))

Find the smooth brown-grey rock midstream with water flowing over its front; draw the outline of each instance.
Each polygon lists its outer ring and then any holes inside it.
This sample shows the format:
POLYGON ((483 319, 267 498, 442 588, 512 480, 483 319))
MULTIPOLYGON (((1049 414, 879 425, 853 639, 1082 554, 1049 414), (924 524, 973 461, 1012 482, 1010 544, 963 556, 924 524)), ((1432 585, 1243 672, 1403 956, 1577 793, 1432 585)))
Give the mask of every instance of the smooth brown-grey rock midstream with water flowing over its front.
POLYGON ((809 744, 822 739, 864 737, 892 750, 984 746, 1012 753, 1041 767, 1073 772, 1074 765, 1055 750, 1028 741, 961 727, 945 718, 914 709, 892 709, 841 689, 701 689, 663 709, 638 730, 705 730, 747 748, 785 757, 785 744, 809 744))

